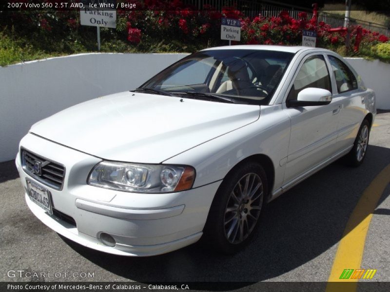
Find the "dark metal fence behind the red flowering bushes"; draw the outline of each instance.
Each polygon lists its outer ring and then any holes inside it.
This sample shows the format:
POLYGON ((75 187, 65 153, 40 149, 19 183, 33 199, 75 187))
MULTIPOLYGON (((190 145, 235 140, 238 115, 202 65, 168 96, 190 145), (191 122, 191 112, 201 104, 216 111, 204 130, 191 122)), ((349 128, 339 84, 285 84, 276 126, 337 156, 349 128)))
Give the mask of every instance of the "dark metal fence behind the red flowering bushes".
MULTIPOLYGON (((203 9, 205 5, 210 5, 216 10, 222 10, 222 7, 235 7, 237 10, 244 13, 245 16, 255 17, 259 14, 265 17, 278 16, 282 11, 289 11, 289 14, 292 18, 298 19, 299 12, 306 12, 308 18, 312 18, 312 10, 280 3, 272 0, 185 0, 184 2, 194 5, 198 9, 203 9)), ((322 11, 318 11, 318 21, 324 21, 329 24, 331 28, 343 27, 345 25, 344 16, 330 14, 322 11)), ((364 20, 350 18, 350 25, 360 25, 363 28, 370 30, 372 32, 378 32, 387 37, 390 36, 390 28, 378 23, 372 23, 364 20)))

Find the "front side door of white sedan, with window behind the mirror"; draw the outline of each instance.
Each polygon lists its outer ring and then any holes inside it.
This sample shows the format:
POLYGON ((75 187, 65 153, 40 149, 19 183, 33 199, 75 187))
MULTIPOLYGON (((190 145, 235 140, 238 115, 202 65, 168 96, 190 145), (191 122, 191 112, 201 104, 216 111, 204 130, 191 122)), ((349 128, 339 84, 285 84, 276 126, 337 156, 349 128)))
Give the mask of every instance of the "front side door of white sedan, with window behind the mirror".
POLYGON ((339 99, 332 99, 330 104, 322 106, 289 108, 287 105, 288 100, 296 99, 299 91, 305 88, 332 92, 331 76, 324 55, 317 53, 304 58, 292 80, 284 103, 284 110, 291 119, 285 184, 310 172, 335 153, 341 107, 339 99))

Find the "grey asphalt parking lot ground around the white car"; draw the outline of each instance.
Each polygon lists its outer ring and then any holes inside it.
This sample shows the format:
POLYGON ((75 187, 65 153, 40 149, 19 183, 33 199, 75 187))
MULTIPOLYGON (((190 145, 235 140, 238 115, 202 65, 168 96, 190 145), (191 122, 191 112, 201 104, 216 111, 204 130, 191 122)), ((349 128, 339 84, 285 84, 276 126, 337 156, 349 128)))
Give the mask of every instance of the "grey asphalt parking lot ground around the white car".
MULTIPOLYGON (((161 256, 135 258, 96 252, 47 228, 24 202, 14 162, 1 163, 0 280, 326 282, 340 241, 349 234, 345 229, 352 212, 389 164, 390 112, 379 111, 364 163, 350 168, 335 162, 272 201, 259 232, 245 250, 223 256, 196 243, 161 256), (9 277, 10 270, 62 274, 59 278, 32 279, 19 274, 9 277), (81 277, 80 273, 94 276, 81 277)), ((361 268, 377 270, 370 281, 390 281, 389 195, 387 185, 364 238, 361 268)), ((355 223, 353 227, 360 222, 355 223)), ((352 268, 348 259, 345 264, 344 269, 352 268)))

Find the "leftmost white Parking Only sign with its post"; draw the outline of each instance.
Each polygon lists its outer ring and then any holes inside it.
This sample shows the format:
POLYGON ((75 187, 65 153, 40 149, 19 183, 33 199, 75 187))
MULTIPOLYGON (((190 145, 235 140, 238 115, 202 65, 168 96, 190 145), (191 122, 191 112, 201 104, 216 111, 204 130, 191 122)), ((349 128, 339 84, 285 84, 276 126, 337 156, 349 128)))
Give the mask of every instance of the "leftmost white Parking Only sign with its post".
POLYGON ((100 27, 117 27, 115 0, 82 0, 80 24, 97 27, 98 51, 100 52, 100 27))

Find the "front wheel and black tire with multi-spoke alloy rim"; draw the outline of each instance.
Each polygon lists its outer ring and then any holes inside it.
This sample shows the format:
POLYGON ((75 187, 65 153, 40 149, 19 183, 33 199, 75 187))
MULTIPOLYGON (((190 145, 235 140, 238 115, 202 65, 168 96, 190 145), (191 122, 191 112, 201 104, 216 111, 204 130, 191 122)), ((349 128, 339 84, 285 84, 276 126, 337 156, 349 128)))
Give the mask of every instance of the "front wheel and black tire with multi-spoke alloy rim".
POLYGON ((267 176, 260 164, 236 166, 215 194, 204 229, 205 243, 225 254, 241 250, 256 231, 267 194, 267 176))

